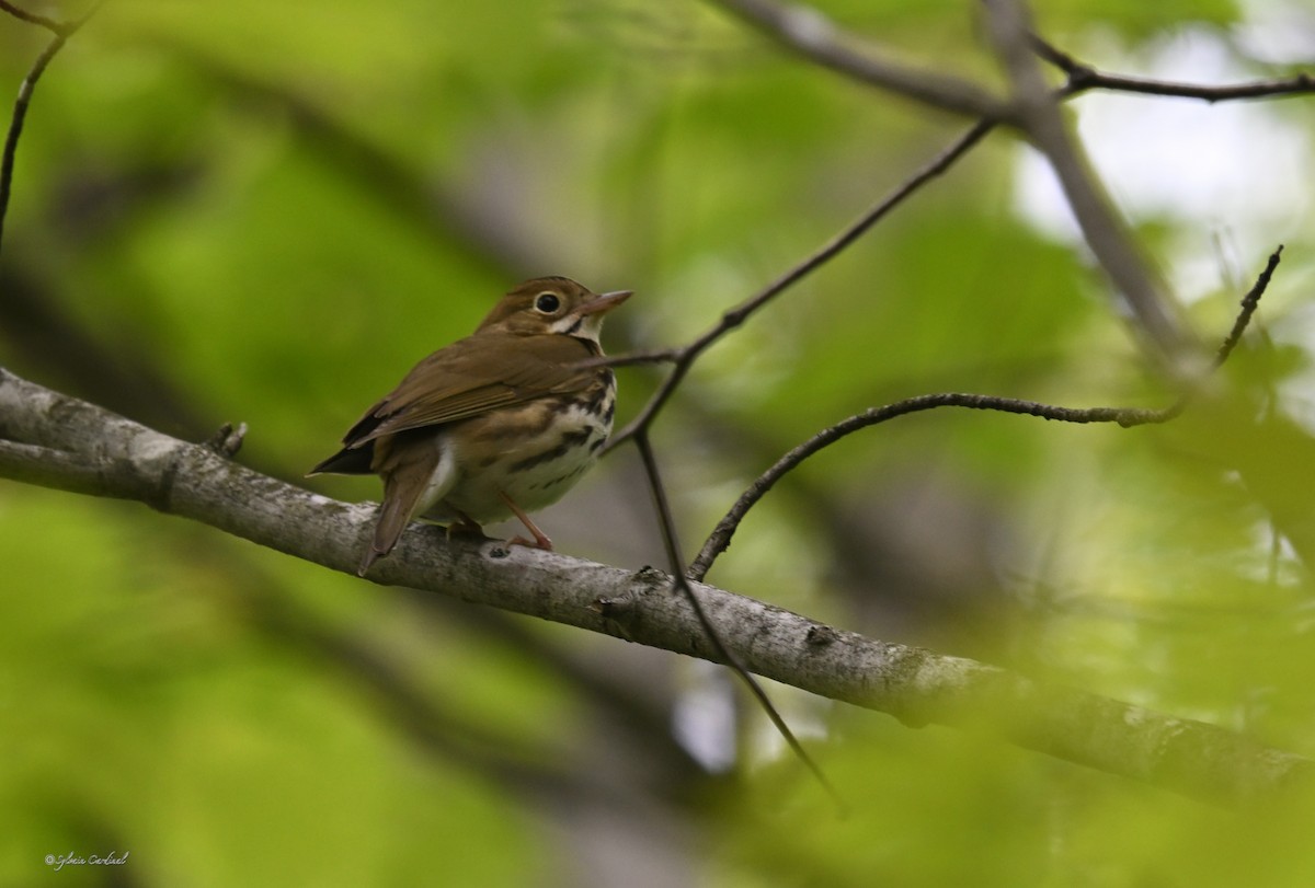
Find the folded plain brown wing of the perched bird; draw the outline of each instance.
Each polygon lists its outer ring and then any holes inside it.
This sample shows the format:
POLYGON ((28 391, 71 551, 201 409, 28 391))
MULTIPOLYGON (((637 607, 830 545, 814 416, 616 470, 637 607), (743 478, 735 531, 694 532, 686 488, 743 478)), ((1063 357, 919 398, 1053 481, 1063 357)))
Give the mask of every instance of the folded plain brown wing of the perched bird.
POLYGON ((343 447, 359 448, 380 435, 468 419, 583 386, 600 370, 579 364, 597 355, 593 343, 573 336, 469 336, 417 364, 351 427, 343 447), (490 355, 506 357, 490 361, 490 355))

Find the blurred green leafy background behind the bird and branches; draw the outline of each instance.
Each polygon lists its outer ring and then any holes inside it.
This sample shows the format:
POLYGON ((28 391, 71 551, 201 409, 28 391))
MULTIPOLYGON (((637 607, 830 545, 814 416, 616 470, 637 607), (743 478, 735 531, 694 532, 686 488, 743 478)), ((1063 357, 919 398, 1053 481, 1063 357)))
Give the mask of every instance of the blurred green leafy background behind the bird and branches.
MULTIPOLYGON (((817 4, 999 85, 974 4, 817 4)), ((1315 62, 1299 0, 1066 0, 1103 70, 1315 62)), ((47 4, 70 17, 75 4, 47 4)), ((17 91, 49 35, 0 16, 17 91)), ((1172 426, 938 411, 851 437, 709 581, 1315 755, 1315 97, 1089 95, 1070 118, 1198 332, 1172 426)), ((705 330, 968 122, 676 0, 110 0, 39 83, 0 363, 281 478, 510 284, 638 292, 611 352, 705 330)), ((997 133, 710 351, 655 428, 692 554, 819 428, 943 390, 1172 401, 1030 150, 997 133)), ((621 422, 660 378, 619 372, 621 422)), ((377 497, 371 479, 308 485, 377 497)), ((664 561, 630 448, 543 515, 664 561)), ((840 818, 718 669, 331 574, 143 506, 0 482, 0 884, 1308 885, 1315 803, 1228 812, 771 686, 840 818), (47 854, 130 854, 121 867, 47 854)))

